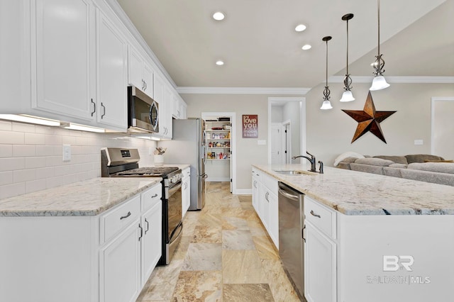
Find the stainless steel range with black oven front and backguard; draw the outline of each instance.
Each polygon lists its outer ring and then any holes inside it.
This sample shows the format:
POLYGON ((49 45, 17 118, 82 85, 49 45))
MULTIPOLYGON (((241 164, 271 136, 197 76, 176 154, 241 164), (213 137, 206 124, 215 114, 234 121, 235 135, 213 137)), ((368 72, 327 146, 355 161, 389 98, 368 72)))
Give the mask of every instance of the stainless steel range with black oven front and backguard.
POLYGON ((179 167, 139 167, 137 149, 107 147, 101 150, 101 177, 161 177, 162 257, 158 264, 169 264, 181 240, 182 170, 179 167))

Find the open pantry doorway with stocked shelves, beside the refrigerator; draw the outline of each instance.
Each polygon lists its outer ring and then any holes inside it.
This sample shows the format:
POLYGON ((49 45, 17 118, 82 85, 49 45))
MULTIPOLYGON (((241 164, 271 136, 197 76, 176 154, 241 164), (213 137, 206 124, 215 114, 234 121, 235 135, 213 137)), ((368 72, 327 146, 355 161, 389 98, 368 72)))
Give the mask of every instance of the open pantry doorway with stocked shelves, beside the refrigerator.
POLYGON ((202 112, 208 140, 206 181, 228 181, 236 188, 236 113, 202 112))

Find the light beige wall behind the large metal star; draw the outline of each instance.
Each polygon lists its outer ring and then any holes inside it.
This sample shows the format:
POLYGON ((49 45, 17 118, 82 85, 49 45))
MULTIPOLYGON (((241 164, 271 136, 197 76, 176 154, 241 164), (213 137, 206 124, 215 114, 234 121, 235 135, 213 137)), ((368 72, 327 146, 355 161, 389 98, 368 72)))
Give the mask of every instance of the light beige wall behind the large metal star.
POLYGON ((344 104, 338 101, 343 84, 330 84, 333 109, 328 111, 320 110, 323 86, 319 84, 306 94, 306 144, 307 150, 327 166, 345 151, 363 155, 430 154, 431 97, 454 96, 454 84, 391 84, 372 91, 377 111, 397 111, 380 123, 387 144, 372 133, 352 144, 358 123, 341 109, 362 110, 370 84, 353 83, 356 100, 344 104), (423 140, 423 145, 414 145, 414 140, 423 140))

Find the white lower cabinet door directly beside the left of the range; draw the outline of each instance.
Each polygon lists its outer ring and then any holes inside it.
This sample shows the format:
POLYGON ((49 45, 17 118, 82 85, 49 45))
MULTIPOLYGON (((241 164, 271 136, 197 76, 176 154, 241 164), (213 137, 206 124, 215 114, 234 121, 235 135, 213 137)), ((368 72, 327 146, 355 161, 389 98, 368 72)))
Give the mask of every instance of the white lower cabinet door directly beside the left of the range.
POLYGON ((142 216, 142 284, 144 286, 162 254, 162 201, 142 216))

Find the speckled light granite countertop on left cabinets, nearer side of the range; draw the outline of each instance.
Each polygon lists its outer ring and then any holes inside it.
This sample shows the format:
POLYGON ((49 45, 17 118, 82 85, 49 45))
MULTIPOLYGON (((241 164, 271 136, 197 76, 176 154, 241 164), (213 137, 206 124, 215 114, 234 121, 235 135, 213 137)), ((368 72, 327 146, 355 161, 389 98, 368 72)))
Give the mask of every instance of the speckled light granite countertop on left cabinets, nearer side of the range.
POLYGON ((96 216, 141 191, 160 177, 104 177, 79 181, 0 200, 0 216, 96 216))

